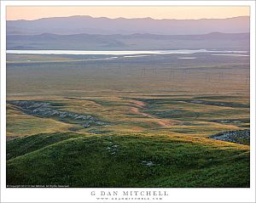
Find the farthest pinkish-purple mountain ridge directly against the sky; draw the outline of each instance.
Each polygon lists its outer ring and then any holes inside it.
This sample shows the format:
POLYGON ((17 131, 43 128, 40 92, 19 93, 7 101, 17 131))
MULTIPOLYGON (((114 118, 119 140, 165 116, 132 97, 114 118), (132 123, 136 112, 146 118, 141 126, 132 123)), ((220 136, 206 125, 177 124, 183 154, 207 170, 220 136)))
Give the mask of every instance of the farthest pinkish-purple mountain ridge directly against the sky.
POLYGON ((7 34, 36 35, 53 34, 158 34, 199 35, 210 32, 241 33, 250 31, 250 17, 201 20, 154 20, 93 18, 89 15, 54 17, 39 20, 7 20, 7 34))

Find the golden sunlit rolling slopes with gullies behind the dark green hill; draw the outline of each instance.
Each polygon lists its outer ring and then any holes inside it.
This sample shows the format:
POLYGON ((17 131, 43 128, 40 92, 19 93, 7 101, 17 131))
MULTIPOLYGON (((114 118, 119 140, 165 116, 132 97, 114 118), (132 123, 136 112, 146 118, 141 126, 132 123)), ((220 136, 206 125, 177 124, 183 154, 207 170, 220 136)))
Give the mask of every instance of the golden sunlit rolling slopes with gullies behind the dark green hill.
POLYGON ((7 105, 7 132, 11 138, 67 131, 91 134, 165 131, 208 138, 250 125, 245 96, 126 94, 126 97, 116 93, 111 97, 34 97, 33 100, 24 97, 18 101, 13 98, 7 105), (79 116, 89 116, 90 121, 79 116))

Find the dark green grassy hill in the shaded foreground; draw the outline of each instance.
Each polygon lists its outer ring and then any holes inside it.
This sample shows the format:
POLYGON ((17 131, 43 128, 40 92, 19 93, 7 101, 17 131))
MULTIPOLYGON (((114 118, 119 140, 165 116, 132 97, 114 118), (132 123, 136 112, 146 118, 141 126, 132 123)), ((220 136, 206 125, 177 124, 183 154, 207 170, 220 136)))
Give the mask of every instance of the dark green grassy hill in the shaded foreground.
POLYGON ((249 187, 249 151, 239 144, 202 145, 148 135, 50 133, 11 140, 7 184, 249 187))

